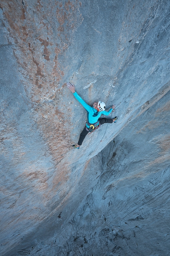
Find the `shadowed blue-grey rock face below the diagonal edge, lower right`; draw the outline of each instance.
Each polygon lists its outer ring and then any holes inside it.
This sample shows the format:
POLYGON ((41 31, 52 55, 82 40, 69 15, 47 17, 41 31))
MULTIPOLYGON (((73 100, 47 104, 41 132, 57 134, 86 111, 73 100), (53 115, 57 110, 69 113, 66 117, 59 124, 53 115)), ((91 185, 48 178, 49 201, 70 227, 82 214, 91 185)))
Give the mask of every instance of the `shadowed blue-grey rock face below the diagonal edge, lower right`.
POLYGON ((92 158, 61 219, 47 220, 17 255, 169 255, 169 108, 170 92, 92 158))

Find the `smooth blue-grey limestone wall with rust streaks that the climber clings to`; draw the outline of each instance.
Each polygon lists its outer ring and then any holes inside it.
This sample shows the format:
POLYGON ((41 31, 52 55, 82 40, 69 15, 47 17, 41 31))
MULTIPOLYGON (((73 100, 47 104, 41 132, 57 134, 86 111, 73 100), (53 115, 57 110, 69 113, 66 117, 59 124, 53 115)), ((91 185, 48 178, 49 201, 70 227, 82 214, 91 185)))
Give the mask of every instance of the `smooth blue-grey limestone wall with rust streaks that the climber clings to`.
POLYGON ((163 0, 0 2, 2 255, 19 255, 25 244, 29 251, 43 235, 60 232, 60 223, 51 227, 51 218, 65 211, 63 221, 70 221, 98 182, 100 161, 93 165, 91 159, 121 131, 128 138, 126 127, 136 118, 136 155, 128 162, 128 154, 121 159, 117 152, 120 173, 136 159, 145 160, 137 148, 146 131, 162 151, 153 162, 134 167, 135 175, 168 167, 168 137, 159 131, 164 132, 169 109, 161 101, 170 88, 169 10, 170 2, 163 0), (86 111, 66 88, 67 81, 90 105, 99 99, 108 108, 121 102, 110 115, 119 116, 117 123, 87 135, 79 150, 72 144, 85 126, 86 111), (162 105, 155 121, 146 113, 157 102, 162 105), (153 132, 155 127, 159 131, 153 132))

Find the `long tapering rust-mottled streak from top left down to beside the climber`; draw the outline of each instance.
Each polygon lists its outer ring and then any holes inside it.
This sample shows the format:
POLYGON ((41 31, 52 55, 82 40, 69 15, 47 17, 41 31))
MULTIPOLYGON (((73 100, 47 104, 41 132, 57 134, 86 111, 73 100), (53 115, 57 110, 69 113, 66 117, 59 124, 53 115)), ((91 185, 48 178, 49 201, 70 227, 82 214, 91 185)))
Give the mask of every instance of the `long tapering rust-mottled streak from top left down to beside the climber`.
POLYGON ((56 105, 53 98, 53 106, 48 100, 56 94, 60 79, 64 76, 58 61, 59 54, 70 44, 72 29, 82 21, 79 2, 69 0, 63 5, 62 1, 56 1, 54 5, 49 5, 46 12, 43 12, 41 0, 32 6, 26 1, 22 4, 22 1, 11 0, 8 3, 2 0, 1 6, 8 21, 8 31, 19 48, 19 51, 14 48, 17 62, 25 70, 28 83, 33 85, 30 96, 36 122, 54 160, 59 162, 71 143, 69 115, 59 110, 59 104, 64 108, 62 100, 56 105), (53 20, 52 12, 56 15, 53 20), (59 23, 57 26, 56 19, 59 23))

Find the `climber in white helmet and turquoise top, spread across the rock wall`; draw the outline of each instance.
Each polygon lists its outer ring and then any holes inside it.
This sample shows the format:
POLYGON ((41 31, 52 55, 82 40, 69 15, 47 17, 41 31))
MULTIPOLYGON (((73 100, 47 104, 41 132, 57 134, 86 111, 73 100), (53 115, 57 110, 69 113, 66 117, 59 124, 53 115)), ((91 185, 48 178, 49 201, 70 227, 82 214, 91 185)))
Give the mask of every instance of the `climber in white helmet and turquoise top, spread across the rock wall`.
POLYGON ((74 84, 66 83, 68 89, 73 93, 74 97, 81 103, 81 105, 86 109, 87 111, 87 119, 88 122, 86 123, 85 128, 80 134, 79 141, 77 145, 73 145, 73 148, 79 149, 82 142, 84 141, 87 133, 93 132, 95 129, 100 127, 100 125, 104 123, 115 123, 117 120, 117 117, 115 116, 113 119, 108 118, 101 118, 100 115, 109 115, 111 111, 114 112, 115 105, 111 107, 111 109, 107 112, 105 111, 106 105, 102 101, 94 102, 93 107, 89 106, 76 92, 74 84))

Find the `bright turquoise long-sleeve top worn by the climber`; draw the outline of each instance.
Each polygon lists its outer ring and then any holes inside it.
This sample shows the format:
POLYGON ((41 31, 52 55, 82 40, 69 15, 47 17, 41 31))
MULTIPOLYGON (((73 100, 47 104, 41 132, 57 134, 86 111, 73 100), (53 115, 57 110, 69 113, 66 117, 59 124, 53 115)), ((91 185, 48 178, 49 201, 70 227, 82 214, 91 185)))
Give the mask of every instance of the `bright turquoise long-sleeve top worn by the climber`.
POLYGON ((100 117, 100 115, 109 115, 112 111, 112 108, 107 111, 98 112, 94 107, 89 106, 78 94, 74 92, 74 97, 81 103, 81 105, 87 111, 87 120, 89 123, 96 123, 100 117))

